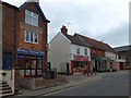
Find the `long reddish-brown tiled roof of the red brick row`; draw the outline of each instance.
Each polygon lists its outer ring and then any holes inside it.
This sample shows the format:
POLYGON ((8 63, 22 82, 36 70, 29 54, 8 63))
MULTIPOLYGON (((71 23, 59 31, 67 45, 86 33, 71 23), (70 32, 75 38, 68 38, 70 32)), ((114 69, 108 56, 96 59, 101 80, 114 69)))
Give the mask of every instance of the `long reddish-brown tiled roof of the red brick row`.
POLYGON ((103 41, 98 41, 96 39, 93 39, 93 38, 90 38, 90 37, 86 37, 86 36, 80 35, 80 34, 75 34, 75 36, 81 37, 92 48, 115 52, 115 50, 109 45, 107 45, 107 44, 105 44, 103 41))

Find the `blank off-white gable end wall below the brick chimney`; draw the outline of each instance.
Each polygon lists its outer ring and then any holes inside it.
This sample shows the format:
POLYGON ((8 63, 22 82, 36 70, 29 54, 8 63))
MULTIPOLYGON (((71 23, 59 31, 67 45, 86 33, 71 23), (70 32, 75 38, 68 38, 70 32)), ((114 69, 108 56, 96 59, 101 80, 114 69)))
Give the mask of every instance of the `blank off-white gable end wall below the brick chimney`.
POLYGON ((57 69, 57 72, 61 72, 66 63, 70 63, 70 40, 62 33, 58 33, 49 42, 48 61, 51 62, 52 68, 57 69))

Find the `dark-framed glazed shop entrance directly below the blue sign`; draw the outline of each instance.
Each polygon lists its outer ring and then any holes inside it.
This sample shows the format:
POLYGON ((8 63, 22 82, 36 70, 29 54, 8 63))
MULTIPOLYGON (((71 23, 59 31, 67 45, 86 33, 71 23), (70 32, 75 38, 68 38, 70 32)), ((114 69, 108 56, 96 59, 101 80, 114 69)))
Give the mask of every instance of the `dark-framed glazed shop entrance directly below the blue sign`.
POLYGON ((19 69, 25 77, 41 76, 41 57, 19 56, 19 69))

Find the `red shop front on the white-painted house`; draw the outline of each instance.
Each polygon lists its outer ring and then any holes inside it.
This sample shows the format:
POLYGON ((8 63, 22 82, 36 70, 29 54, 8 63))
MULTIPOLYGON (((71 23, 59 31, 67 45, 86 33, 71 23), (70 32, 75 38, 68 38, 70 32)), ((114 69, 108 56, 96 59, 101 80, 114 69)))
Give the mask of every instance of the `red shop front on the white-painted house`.
POLYGON ((71 74, 81 74, 90 65, 90 57, 86 56, 73 56, 71 60, 71 74))

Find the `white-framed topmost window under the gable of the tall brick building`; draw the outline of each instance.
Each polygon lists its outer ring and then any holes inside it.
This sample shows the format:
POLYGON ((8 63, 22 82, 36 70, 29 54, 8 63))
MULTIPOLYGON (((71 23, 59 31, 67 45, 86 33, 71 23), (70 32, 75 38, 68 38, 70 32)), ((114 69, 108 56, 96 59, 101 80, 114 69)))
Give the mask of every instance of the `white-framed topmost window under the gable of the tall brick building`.
POLYGON ((38 26, 38 14, 25 10, 25 23, 38 26))

